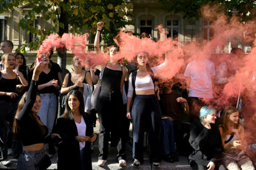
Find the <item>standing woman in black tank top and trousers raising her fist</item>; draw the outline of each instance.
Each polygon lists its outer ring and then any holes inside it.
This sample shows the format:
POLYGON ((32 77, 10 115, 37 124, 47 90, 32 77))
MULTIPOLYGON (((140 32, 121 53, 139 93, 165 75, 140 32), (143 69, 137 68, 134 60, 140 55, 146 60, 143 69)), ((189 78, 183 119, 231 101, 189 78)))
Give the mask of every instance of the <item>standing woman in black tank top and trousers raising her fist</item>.
MULTIPOLYGON (((98 29, 94 41, 97 53, 101 52, 99 48, 99 35, 103 25, 103 22, 97 23, 98 29)), ((117 57, 115 56, 118 51, 119 48, 116 45, 109 47, 110 62, 104 68, 101 79, 101 92, 97 101, 96 108, 100 123, 98 166, 103 166, 107 160, 110 132, 111 146, 117 146, 119 166, 126 166, 125 140, 121 140, 123 138, 123 125, 120 120, 125 118, 125 114, 122 114, 121 110, 123 108, 123 83, 127 71, 125 67, 118 64, 117 57)))

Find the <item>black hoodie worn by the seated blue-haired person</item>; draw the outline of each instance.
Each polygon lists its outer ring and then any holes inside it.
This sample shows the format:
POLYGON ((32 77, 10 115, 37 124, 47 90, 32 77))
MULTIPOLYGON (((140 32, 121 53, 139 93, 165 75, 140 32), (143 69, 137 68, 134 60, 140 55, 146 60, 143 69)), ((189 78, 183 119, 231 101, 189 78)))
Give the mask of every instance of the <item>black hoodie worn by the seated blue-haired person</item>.
POLYGON ((194 152, 189 156, 189 162, 207 166, 211 161, 215 165, 222 152, 221 134, 215 124, 211 129, 204 127, 197 119, 190 125, 189 143, 194 152))

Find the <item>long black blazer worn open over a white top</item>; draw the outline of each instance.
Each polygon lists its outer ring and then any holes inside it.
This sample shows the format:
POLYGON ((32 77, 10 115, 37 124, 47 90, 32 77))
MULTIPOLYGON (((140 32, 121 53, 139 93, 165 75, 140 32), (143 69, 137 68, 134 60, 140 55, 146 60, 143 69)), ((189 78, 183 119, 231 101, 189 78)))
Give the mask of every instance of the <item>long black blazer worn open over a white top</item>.
MULTIPOLYGON (((86 136, 93 134, 93 124, 89 117, 83 117, 86 124, 86 136)), ((75 140, 75 136, 78 136, 77 126, 75 121, 64 118, 64 115, 59 117, 56 122, 55 133, 61 135, 60 144, 58 146, 58 170, 66 169, 81 169, 81 159, 80 159, 80 147, 79 142, 75 140)), ((85 143, 85 169, 91 170, 91 142, 87 141, 85 143)))

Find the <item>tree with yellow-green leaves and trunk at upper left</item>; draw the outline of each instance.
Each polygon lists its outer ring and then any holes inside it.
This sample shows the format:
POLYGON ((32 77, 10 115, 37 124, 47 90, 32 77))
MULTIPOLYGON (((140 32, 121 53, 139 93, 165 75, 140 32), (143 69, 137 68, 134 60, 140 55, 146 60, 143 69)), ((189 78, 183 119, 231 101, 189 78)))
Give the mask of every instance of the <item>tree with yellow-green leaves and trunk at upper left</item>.
MULTIPOLYGON (((62 36, 69 31, 80 34, 81 30, 95 33, 99 21, 105 23, 102 30, 103 40, 110 45, 120 28, 132 24, 124 16, 131 16, 130 10, 133 5, 124 0, 2 0, 0 13, 26 3, 32 3, 34 7, 19 20, 18 28, 26 30, 27 34, 36 34, 35 42, 29 43, 31 50, 37 50, 38 45, 50 34, 58 33, 62 36), (35 14, 42 14, 43 19, 51 20, 53 27, 48 30, 34 28, 31 23, 35 20, 35 14)), ((24 50, 25 46, 22 48, 24 50)), ((58 51, 65 50, 59 49, 58 51)), ((58 63, 63 70, 62 77, 64 78, 66 53, 58 52, 58 63)))

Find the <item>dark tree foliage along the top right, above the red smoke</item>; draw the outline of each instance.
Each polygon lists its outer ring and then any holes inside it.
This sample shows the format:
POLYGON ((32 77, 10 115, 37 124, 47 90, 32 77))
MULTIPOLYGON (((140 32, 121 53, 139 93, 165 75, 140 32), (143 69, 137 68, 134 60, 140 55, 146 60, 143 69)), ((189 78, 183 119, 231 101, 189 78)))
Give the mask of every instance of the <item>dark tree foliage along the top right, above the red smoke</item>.
POLYGON ((254 19, 255 0, 159 0, 162 9, 174 13, 183 12, 183 18, 201 18, 201 8, 205 5, 227 16, 237 16, 241 21, 254 19))

